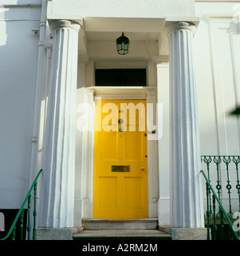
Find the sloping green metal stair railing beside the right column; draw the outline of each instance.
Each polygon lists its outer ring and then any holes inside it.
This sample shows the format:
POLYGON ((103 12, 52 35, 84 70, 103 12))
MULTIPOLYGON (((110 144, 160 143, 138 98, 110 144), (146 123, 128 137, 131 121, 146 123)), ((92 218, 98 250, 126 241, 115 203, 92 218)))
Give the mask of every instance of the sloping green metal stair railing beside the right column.
POLYGON ((229 214, 226 213, 226 210, 224 210, 224 207, 222 206, 222 203, 220 202, 218 195, 215 193, 214 188, 210 185, 210 181, 207 178, 207 175, 204 173, 203 170, 200 171, 203 174, 203 177, 206 180, 206 191, 207 191, 207 240, 217 240, 217 239, 226 239, 226 232, 225 232, 225 223, 224 218, 226 218, 226 222, 229 225, 229 238, 230 240, 239 240, 239 231, 237 232, 230 221, 229 214), (212 204, 210 194, 212 194, 212 204), (216 202, 218 202, 218 217, 216 214, 216 202), (212 206, 210 208, 210 206, 212 206), (212 228, 210 232, 210 217, 213 218, 212 221, 212 228), (218 226, 216 223, 216 219, 220 218, 220 238, 217 238, 218 234, 218 226), (210 239, 211 234, 211 239, 210 239))

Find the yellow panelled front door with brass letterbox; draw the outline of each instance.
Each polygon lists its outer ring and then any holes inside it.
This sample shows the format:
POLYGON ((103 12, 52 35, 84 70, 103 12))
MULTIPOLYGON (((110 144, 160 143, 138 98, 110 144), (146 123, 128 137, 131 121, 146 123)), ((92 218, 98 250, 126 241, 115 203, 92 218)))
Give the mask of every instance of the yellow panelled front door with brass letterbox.
POLYGON ((96 101, 93 218, 148 218, 145 100, 96 101))

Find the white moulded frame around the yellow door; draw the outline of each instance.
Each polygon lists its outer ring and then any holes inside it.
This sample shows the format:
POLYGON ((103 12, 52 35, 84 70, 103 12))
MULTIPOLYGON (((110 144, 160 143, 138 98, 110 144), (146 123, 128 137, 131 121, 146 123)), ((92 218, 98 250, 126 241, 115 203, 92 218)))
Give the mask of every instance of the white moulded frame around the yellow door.
MULTIPOLYGON (((93 205, 93 162, 94 162, 94 113, 95 102, 101 99, 146 99, 153 104, 154 116, 156 106, 156 87, 96 87, 85 88, 86 125, 83 131, 83 162, 81 174, 82 218, 92 218, 93 205), (90 130, 90 131, 89 131, 90 130)), ((148 120, 148 116, 147 116, 148 120)), ((155 120, 154 120, 155 121, 155 120)), ((148 131, 148 135, 151 131, 148 131)), ((148 140, 148 218, 158 218, 159 171, 157 141, 148 140)))

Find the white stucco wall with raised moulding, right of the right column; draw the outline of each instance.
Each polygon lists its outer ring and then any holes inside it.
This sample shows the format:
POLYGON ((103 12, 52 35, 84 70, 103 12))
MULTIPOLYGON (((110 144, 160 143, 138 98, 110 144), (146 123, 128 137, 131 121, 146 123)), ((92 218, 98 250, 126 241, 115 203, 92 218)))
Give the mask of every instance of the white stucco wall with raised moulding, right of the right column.
MULTIPOLYGON (((195 7, 200 18, 194 42, 201 154, 238 155, 240 123, 230 112, 240 103, 240 30, 239 22, 234 22, 239 2, 197 2, 195 7)), ((206 170, 204 163, 203 168, 206 170)), ((215 170, 214 164, 211 168, 215 170)), ((226 167, 220 175, 222 202, 228 210, 226 167)), ((216 171, 211 179, 215 184, 216 171)), ((230 181, 232 210, 237 211, 234 163, 230 164, 230 181)))

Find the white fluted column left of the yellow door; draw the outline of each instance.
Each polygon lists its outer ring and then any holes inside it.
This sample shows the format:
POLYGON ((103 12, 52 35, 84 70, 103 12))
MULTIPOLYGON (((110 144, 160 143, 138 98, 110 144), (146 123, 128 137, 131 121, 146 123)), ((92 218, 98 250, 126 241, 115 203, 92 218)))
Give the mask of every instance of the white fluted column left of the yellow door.
POLYGON ((49 23, 54 43, 38 226, 66 228, 73 227, 77 45, 80 25, 68 20, 49 23))

